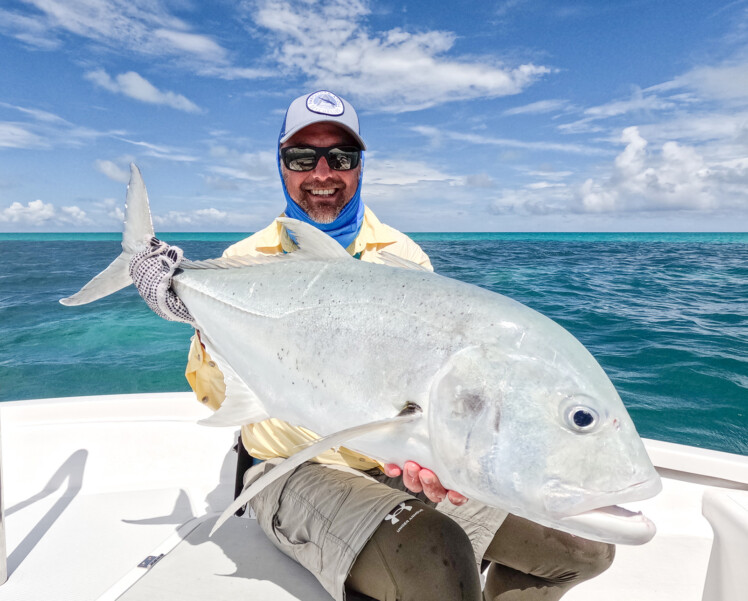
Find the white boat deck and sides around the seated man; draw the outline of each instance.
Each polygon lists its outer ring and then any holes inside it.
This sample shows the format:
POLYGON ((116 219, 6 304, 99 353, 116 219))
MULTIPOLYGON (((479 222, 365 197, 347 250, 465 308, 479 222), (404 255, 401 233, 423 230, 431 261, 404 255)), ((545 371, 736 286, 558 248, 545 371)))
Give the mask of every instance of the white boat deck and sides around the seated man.
MULTIPOLYGON (((187 393, 0 404, 9 572, 0 601, 329 600, 253 520, 234 518, 207 539, 233 496, 237 435, 196 424, 208 414, 187 393)), ((608 572, 564 599, 702 599, 713 539, 702 496, 716 491, 748 512, 748 457, 647 447, 664 490, 629 507, 654 519, 657 536, 619 546, 608 572)))

